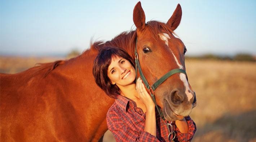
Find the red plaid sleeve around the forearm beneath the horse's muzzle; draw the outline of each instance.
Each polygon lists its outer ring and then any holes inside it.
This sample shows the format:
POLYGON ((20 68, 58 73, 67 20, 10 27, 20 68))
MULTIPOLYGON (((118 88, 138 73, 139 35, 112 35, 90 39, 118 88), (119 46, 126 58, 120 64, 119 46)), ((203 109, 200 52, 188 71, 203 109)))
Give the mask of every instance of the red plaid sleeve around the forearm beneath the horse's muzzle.
POLYGON ((184 134, 180 132, 178 127, 176 127, 177 139, 179 142, 190 142, 197 130, 195 122, 189 116, 185 117, 185 119, 187 120, 189 131, 184 134))

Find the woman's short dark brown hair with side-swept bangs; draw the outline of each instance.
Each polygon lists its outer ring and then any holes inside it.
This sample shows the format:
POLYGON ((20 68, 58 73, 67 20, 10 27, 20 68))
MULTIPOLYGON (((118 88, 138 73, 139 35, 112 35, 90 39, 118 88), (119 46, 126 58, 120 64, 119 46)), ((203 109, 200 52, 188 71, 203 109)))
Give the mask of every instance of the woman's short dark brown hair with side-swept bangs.
POLYGON ((93 62, 93 76, 96 84, 111 98, 116 98, 120 95, 120 90, 116 84, 111 84, 107 76, 107 70, 111 63, 112 57, 122 57, 128 60, 134 67, 132 57, 119 47, 104 47, 100 50, 93 62))

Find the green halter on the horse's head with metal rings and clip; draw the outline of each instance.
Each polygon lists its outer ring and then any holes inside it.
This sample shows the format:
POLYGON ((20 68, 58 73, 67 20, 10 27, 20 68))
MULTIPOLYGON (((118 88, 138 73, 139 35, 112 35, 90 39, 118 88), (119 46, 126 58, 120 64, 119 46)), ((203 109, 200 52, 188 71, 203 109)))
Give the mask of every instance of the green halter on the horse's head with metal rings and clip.
MULTIPOLYGON (((144 74, 142 73, 142 70, 141 70, 140 62, 139 62, 139 59, 138 59, 138 53, 137 53, 137 42, 138 42, 138 40, 137 40, 137 38, 136 38, 135 52, 134 52, 134 54, 135 54, 135 72, 136 72, 136 80, 138 79, 137 70, 139 70, 140 77, 141 77, 142 81, 144 82, 144 85, 146 86, 146 88, 150 91, 150 96, 151 96, 152 100, 153 100, 154 103, 155 103, 156 109, 157 109, 157 111, 158 111, 160 117, 161 117, 163 120, 165 120, 162 110, 161 110, 161 109, 158 107, 158 105, 156 104, 155 95, 154 95, 154 94, 155 94, 155 89, 156 89, 160 84, 162 84, 166 79, 168 79, 170 76, 172 76, 172 75, 174 75, 174 74, 183 73, 183 74, 185 74, 185 75, 187 76, 186 71, 185 71, 185 70, 182 70, 182 69, 180 69, 180 68, 175 68, 175 69, 173 69, 173 70, 167 72, 164 76, 162 76, 159 80, 157 80, 153 85, 150 85, 149 82, 147 82, 146 77, 144 76, 144 74), (153 93, 152 93, 152 91, 153 91, 153 93)), ((135 82, 137 82, 137 81, 135 81, 135 82)), ((165 123, 164 123, 164 124, 165 124, 165 123)), ((167 126, 168 131, 169 131, 168 139, 171 141, 171 140, 173 140, 173 139, 175 138, 175 136, 176 136, 176 134, 175 134, 175 132, 174 132, 174 130, 173 130, 172 122, 171 122, 171 123, 166 123, 165 125, 167 126), (172 130, 172 131, 170 131, 168 125, 171 126, 171 130, 172 130), (171 135, 172 135, 172 134, 173 134, 173 138, 171 139, 171 135)))

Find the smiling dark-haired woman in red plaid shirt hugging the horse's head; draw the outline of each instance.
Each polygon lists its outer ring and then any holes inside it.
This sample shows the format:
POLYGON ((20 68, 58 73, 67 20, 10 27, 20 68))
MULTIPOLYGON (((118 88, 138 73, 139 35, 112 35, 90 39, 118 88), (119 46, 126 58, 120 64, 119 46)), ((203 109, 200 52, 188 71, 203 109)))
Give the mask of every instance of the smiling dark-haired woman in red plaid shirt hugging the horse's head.
MULTIPOLYGON (((118 47, 103 48, 94 60, 93 76, 105 93, 115 98, 107 113, 107 127, 116 141, 168 141, 168 128, 141 79, 132 58, 118 47)), ((190 117, 175 121, 174 141, 190 141, 196 126, 190 117)))

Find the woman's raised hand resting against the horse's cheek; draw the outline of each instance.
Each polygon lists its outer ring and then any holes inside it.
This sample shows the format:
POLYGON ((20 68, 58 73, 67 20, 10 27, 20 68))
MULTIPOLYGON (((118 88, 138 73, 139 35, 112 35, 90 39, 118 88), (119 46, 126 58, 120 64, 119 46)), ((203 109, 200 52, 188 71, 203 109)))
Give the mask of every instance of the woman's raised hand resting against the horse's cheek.
POLYGON ((144 103, 144 105, 146 106, 146 109, 155 109, 155 103, 153 102, 149 93, 147 93, 147 90, 142 83, 140 77, 137 79, 136 90, 140 96, 142 103, 144 103))

